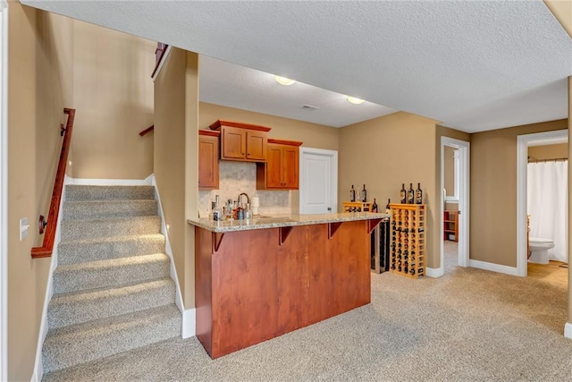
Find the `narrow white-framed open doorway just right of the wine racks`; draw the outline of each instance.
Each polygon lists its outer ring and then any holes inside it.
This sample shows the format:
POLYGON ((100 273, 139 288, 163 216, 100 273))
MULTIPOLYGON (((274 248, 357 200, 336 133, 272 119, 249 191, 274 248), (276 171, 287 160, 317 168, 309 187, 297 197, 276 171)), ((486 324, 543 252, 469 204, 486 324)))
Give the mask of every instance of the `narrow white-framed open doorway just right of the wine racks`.
POLYGON ((467 141, 441 138, 441 275, 468 266, 469 150, 467 141))

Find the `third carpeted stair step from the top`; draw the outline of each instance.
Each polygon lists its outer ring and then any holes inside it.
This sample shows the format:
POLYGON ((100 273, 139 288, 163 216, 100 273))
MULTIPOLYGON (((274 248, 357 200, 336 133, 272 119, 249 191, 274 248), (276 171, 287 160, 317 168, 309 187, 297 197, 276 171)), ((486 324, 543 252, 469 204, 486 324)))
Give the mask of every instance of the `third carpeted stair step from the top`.
POLYGON ((160 216, 62 220, 62 240, 88 240, 161 232, 160 216))

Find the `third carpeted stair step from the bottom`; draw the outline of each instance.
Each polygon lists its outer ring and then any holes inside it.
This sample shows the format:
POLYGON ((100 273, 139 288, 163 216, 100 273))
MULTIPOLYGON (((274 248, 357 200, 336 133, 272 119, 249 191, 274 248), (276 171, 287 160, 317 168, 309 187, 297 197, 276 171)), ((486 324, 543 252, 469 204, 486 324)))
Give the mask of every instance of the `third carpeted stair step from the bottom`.
POLYGON ((54 293, 156 280, 168 277, 169 270, 169 257, 164 253, 59 266, 54 271, 54 293))

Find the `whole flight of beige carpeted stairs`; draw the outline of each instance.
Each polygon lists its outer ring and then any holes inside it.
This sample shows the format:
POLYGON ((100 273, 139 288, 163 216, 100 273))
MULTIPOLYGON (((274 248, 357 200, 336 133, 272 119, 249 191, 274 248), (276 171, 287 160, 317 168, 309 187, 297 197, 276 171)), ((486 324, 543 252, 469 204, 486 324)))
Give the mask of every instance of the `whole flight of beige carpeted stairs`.
POLYGON ((65 192, 44 373, 180 336, 154 188, 65 192))

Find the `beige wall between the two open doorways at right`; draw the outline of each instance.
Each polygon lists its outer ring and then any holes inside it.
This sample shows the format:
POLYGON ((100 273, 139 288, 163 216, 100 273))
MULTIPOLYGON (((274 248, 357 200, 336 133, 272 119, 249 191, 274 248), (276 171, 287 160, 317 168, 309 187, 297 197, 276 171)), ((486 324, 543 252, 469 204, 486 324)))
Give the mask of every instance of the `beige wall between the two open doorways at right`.
POLYGON ((471 259, 517 266, 517 135, 567 128, 559 120, 471 134, 471 259))

